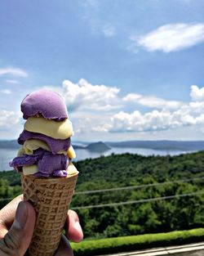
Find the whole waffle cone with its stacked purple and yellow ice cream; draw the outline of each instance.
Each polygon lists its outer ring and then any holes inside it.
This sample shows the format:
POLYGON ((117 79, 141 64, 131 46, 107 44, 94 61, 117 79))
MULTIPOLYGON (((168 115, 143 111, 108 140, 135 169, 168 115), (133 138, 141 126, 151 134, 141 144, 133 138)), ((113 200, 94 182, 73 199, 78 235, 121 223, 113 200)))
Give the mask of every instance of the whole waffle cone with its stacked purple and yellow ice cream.
POLYGON ((21 173, 24 200, 29 200, 36 212, 28 255, 53 256, 78 179, 71 162, 75 157, 70 138, 73 126, 56 92, 30 93, 21 110, 26 119, 18 138, 21 148, 10 166, 21 173))

